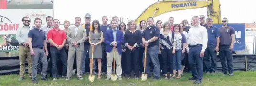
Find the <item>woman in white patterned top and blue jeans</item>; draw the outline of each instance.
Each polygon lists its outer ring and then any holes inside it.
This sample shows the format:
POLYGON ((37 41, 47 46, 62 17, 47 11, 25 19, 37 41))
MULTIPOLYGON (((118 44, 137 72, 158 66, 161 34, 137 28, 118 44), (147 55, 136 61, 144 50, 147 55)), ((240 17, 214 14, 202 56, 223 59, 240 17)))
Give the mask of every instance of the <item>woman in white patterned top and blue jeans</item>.
POLYGON ((176 77, 176 70, 178 70, 178 76, 176 78, 181 78, 181 57, 182 53, 185 52, 186 48, 186 37, 183 33, 181 33, 181 26, 175 24, 173 26, 174 30, 174 42, 173 42, 173 76, 172 78, 176 77))

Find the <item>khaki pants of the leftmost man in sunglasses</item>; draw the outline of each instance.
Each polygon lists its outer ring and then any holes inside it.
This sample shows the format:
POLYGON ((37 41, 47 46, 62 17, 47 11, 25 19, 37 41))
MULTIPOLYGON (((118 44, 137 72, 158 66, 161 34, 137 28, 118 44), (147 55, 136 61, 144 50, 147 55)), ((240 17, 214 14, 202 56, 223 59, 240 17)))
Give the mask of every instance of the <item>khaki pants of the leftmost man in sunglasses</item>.
POLYGON ((28 72, 29 77, 32 77, 32 58, 30 55, 30 49, 22 45, 19 46, 19 59, 20 59, 20 77, 24 77, 25 74, 25 62, 28 59, 28 72))

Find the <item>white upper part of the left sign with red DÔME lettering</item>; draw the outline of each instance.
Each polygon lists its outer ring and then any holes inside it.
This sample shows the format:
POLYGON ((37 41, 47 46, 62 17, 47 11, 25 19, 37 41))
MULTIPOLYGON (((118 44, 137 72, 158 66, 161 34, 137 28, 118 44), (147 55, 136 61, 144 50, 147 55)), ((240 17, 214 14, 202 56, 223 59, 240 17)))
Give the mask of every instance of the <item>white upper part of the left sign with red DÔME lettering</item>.
POLYGON ((0 34, 16 34, 19 26, 23 26, 21 19, 30 17, 30 26, 34 26, 34 19, 41 18, 42 26, 46 26, 46 17, 53 17, 53 9, 1 9, 0 34))

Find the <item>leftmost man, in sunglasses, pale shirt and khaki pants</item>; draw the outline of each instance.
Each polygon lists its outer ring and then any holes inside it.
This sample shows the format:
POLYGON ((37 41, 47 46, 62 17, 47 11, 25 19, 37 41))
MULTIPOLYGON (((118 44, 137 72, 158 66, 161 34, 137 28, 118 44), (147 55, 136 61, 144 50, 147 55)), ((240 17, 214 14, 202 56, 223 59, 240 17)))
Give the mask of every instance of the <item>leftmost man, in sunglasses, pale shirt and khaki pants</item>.
POLYGON ((22 81, 24 79, 25 74, 25 62, 26 58, 28 59, 28 72, 29 77, 32 78, 32 58, 30 55, 30 49, 28 44, 28 34, 29 30, 32 28, 30 25, 30 18, 29 17, 23 17, 22 22, 24 26, 20 26, 17 30, 16 39, 18 40, 20 46, 19 46, 19 57, 20 57, 20 78, 19 81, 22 81), (28 54, 27 54, 28 53, 28 54))

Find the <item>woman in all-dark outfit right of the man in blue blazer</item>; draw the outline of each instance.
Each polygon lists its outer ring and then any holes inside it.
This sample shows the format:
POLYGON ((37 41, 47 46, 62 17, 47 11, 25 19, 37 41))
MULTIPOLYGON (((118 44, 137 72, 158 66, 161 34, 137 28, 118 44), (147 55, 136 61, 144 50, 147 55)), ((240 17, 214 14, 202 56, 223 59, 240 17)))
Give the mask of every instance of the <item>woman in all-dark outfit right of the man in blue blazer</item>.
POLYGON ((136 30, 135 21, 130 21, 128 26, 129 30, 124 35, 127 79, 131 77, 132 66, 134 67, 135 79, 139 79, 139 43, 141 43, 142 34, 139 30, 136 30))

